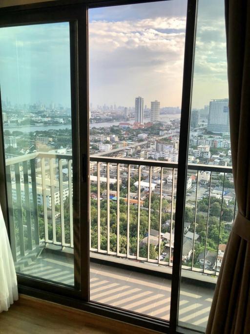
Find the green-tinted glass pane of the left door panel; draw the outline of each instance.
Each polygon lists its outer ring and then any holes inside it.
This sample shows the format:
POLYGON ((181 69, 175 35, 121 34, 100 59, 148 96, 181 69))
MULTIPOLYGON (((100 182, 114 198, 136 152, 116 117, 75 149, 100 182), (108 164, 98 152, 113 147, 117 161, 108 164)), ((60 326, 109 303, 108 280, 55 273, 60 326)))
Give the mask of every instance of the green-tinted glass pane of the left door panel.
POLYGON ((74 285, 69 23, 1 28, 0 63, 16 270, 74 285))

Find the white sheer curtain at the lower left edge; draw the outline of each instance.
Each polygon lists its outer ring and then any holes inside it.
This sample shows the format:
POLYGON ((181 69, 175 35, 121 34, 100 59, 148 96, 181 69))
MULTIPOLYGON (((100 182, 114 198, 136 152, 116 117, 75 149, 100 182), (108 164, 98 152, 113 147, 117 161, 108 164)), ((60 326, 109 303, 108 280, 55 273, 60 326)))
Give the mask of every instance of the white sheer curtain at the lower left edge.
POLYGON ((17 275, 0 207, 0 312, 18 300, 17 275))

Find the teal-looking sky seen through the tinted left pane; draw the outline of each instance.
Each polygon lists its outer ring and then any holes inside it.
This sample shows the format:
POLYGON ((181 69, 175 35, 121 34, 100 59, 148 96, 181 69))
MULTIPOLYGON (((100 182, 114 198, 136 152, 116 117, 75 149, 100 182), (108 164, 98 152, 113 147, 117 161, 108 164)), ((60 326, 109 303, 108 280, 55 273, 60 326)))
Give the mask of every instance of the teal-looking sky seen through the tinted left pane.
POLYGON ((1 98, 70 106, 69 23, 0 28, 1 98))

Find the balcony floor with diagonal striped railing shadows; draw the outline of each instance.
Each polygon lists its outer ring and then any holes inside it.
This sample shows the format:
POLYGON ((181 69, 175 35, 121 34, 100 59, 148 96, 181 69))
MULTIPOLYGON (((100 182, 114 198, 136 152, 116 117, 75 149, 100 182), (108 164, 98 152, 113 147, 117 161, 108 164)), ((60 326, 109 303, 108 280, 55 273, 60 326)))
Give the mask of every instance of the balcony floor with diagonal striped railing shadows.
MULTIPOLYGON (((73 257, 60 252, 42 252, 32 261, 17 263, 16 268, 27 275, 74 285, 73 257)), ((170 295, 170 279, 90 262, 93 301, 169 320, 170 295)), ((205 328, 212 296, 213 289, 182 283, 179 320, 205 328)))

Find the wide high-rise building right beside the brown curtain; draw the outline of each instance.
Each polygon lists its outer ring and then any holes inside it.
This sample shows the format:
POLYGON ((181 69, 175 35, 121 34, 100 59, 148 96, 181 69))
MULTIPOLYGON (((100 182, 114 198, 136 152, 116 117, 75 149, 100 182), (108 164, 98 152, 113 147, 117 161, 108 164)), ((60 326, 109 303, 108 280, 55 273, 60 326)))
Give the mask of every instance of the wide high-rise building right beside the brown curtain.
POLYGON ((229 132, 229 99, 210 101, 208 131, 214 133, 229 132))

